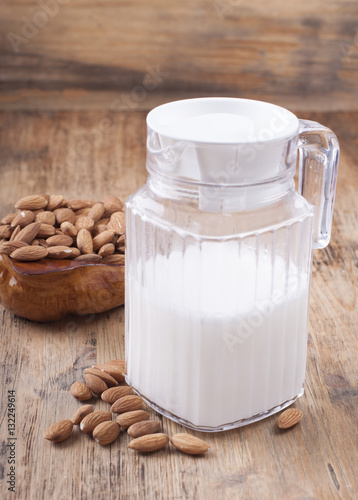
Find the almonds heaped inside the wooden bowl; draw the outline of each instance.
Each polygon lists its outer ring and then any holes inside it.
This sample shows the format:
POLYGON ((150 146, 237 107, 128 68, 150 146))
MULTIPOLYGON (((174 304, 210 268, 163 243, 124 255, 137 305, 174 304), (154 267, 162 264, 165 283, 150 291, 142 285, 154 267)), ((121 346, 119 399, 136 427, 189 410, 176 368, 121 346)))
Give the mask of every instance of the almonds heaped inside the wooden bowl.
POLYGON ((0 224, 0 253, 19 261, 72 259, 124 265, 125 207, 116 196, 103 202, 61 195, 21 198, 0 224))

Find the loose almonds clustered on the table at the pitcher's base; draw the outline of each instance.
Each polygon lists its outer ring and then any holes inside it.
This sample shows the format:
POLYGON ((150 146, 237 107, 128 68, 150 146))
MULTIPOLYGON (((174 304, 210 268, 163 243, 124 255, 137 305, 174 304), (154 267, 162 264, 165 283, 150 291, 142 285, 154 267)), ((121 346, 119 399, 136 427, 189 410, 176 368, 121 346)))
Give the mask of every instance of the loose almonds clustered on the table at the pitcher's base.
POLYGON ((99 444, 113 443, 122 430, 133 439, 128 448, 138 452, 153 452, 168 445, 169 441, 178 450, 190 455, 199 455, 209 450, 202 439, 179 433, 169 439, 160 432, 161 422, 150 418, 144 409, 142 398, 134 394, 124 383, 125 363, 122 359, 97 364, 84 370, 84 382, 74 382, 71 394, 79 401, 88 401, 94 396, 110 404, 108 411, 95 411, 92 404, 78 408, 72 419, 61 420, 45 432, 45 438, 59 443, 71 436, 73 426, 78 425, 84 434, 91 435, 99 444), (116 414, 115 420, 112 415, 116 414))

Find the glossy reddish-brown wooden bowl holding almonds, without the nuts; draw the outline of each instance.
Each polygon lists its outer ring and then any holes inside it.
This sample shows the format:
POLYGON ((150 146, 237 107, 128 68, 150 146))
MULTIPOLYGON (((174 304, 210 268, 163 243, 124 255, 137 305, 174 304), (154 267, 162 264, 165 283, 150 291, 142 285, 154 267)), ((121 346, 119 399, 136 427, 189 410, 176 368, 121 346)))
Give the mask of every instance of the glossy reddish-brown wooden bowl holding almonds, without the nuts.
POLYGON ((0 254, 0 304, 39 322, 108 311, 124 304, 124 266, 0 254))

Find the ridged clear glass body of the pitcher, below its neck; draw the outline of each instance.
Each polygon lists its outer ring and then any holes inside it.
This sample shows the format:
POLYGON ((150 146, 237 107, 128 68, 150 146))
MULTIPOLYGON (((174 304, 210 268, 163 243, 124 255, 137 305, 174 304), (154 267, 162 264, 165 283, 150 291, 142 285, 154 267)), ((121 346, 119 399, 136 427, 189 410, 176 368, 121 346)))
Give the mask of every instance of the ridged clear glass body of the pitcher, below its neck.
MULTIPOLYGON (((289 219, 206 237, 194 211, 180 227, 152 210, 147 192, 138 196, 127 206, 128 382, 159 411, 205 430, 301 395, 312 210, 292 194, 300 209, 289 219)), ((240 225, 233 219, 222 224, 240 225)))

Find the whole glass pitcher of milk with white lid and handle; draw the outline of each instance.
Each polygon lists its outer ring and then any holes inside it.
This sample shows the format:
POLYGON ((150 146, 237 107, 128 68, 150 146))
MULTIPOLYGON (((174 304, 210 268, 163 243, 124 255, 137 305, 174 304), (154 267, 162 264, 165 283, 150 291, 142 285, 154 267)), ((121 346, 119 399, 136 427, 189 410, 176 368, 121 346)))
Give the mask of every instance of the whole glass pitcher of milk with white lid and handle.
POLYGON ((303 394, 337 138, 231 98, 168 103, 147 125, 149 177, 126 208, 126 380, 196 430, 265 418, 303 394))

